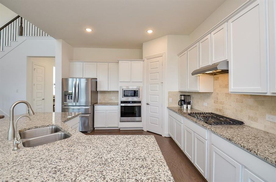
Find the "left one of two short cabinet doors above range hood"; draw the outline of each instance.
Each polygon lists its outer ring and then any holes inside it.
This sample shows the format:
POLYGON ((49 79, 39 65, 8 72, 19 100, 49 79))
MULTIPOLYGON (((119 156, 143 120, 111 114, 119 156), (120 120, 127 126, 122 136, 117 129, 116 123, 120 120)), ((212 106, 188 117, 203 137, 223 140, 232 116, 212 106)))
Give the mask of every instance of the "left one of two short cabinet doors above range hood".
POLYGON ((211 64, 211 35, 199 41, 199 67, 211 64))

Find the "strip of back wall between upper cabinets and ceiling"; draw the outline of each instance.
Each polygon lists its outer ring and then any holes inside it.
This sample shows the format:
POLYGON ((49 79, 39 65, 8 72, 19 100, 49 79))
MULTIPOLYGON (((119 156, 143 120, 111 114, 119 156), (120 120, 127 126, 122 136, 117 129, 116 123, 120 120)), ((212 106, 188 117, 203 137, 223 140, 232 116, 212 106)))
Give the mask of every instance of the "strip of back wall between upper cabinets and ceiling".
POLYGON ((117 61, 117 59, 142 59, 142 49, 74 48, 75 61, 117 61))

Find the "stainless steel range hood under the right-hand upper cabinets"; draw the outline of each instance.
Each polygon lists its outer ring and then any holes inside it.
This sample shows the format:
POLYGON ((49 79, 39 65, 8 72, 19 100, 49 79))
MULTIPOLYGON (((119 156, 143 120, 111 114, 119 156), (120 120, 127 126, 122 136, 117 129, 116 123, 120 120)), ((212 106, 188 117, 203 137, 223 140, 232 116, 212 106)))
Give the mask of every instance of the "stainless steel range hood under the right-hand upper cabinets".
POLYGON ((196 69, 192 72, 192 75, 219 75, 224 73, 228 73, 228 61, 221 61, 196 69))

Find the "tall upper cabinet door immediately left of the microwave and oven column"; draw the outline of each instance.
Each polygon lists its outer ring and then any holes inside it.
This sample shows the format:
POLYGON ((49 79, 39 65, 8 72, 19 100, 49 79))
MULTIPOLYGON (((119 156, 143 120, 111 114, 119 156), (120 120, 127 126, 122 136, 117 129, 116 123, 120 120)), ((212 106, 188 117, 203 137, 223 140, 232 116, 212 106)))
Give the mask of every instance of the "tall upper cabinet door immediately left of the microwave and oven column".
POLYGON ((108 90, 119 90, 119 63, 108 63, 108 90))

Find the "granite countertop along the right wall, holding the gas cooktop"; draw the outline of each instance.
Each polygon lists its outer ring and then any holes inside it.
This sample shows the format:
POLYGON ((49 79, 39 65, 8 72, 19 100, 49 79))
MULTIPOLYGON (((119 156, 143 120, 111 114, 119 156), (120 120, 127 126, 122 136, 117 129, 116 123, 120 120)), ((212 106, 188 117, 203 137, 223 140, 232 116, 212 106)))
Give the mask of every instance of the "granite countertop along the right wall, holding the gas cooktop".
POLYGON ((244 148, 267 162, 276 165, 276 135, 247 125, 210 126, 188 115, 188 113, 192 112, 202 112, 200 110, 183 110, 179 107, 167 108, 183 117, 186 117, 199 126, 210 130, 222 138, 235 143, 239 147, 244 148))

